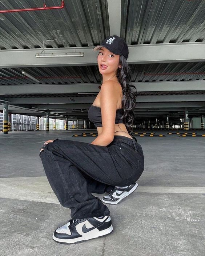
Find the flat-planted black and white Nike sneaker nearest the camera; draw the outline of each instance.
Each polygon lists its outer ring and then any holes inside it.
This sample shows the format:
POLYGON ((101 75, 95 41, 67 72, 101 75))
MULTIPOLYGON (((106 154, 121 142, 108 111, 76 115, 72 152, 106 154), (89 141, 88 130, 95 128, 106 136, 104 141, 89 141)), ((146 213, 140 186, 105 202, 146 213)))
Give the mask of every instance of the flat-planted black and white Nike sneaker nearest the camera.
POLYGON ((110 216, 71 219, 67 224, 57 228, 53 240, 62 244, 75 244, 85 240, 105 236, 113 231, 110 216))

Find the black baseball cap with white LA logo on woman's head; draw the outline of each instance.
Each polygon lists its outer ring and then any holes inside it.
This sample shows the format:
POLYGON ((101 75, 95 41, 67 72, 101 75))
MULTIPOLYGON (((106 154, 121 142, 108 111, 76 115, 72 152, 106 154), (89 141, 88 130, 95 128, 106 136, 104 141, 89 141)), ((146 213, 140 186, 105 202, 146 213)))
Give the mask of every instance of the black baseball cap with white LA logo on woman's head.
POLYGON ((125 56, 125 59, 128 58, 128 45, 126 44, 125 40, 119 36, 114 35, 106 37, 101 45, 97 45, 95 48, 93 48, 93 51, 100 50, 102 46, 114 54, 123 55, 125 56))

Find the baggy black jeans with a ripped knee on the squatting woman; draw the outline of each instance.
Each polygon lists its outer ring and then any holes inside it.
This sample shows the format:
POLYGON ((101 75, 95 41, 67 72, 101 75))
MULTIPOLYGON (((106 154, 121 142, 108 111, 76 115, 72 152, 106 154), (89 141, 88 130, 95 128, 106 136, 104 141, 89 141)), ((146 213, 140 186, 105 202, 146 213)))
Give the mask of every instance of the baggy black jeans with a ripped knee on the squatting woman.
POLYGON ((134 139, 115 135, 107 146, 55 140, 40 152, 47 179, 72 219, 109 216, 106 205, 91 194, 131 185, 144 171, 142 147, 134 139))

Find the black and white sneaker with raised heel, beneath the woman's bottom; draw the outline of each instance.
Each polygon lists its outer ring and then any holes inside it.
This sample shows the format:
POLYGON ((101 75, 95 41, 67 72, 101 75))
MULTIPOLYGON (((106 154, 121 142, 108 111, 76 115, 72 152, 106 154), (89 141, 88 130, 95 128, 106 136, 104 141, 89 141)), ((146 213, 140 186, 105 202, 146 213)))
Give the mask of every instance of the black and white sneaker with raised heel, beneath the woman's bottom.
POLYGON ((123 198, 135 191, 137 187, 136 182, 126 187, 114 187, 109 195, 103 197, 102 201, 106 204, 118 204, 123 198))

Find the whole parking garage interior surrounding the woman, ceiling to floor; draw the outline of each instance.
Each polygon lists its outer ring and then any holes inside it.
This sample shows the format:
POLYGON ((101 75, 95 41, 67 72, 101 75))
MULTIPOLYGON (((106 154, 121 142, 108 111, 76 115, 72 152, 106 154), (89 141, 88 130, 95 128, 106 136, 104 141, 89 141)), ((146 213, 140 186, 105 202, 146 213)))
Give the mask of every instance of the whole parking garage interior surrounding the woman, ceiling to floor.
POLYGON ((204 0, 0 0, 0 254, 204 255, 204 10, 204 0), (69 209, 39 151, 50 139, 97 136, 92 49, 109 35, 128 44, 145 170, 136 191, 109 206, 112 234, 61 245, 51 233, 69 209))

